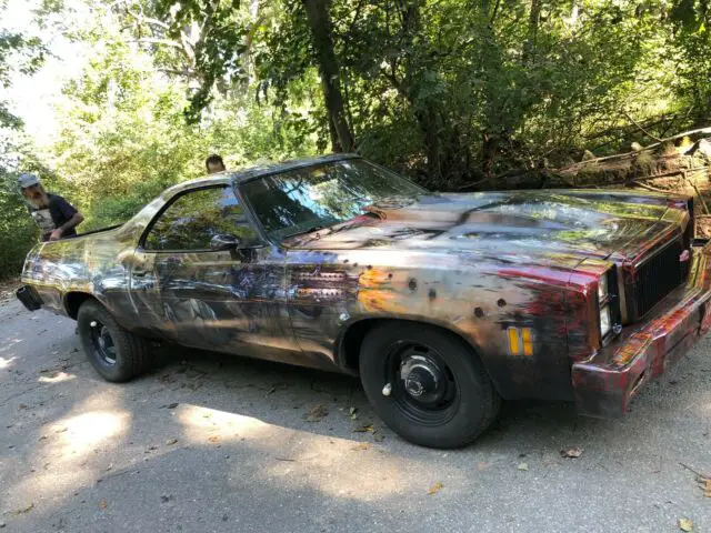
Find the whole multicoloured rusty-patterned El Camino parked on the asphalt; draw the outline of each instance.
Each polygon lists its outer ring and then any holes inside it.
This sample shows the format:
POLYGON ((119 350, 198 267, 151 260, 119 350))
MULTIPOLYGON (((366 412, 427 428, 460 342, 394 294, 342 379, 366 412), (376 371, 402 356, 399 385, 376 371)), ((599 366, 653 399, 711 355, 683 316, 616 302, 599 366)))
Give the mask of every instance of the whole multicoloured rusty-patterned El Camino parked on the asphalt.
POLYGON ((156 341, 359 375, 395 433, 474 441, 503 400, 623 414, 709 329, 693 201, 431 193, 360 157, 223 172, 28 254, 18 298, 123 382, 156 341))

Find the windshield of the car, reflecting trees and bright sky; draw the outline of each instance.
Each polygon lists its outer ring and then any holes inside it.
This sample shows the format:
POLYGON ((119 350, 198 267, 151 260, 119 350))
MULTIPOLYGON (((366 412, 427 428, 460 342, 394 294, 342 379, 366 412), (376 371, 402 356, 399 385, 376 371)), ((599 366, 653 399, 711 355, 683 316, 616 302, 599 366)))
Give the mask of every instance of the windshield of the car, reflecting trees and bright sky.
POLYGON ((360 159, 294 169, 249 181, 241 191, 274 240, 346 222, 389 197, 427 191, 360 159))

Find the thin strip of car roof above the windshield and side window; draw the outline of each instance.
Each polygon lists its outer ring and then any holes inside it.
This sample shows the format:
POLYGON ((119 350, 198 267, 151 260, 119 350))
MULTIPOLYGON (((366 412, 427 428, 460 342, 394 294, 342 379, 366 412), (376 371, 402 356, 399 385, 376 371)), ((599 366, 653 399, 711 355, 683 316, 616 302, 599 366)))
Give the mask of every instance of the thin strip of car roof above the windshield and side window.
POLYGON ((281 172, 288 172, 294 169, 303 169, 308 167, 314 167, 318 164, 331 163, 336 161, 344 161, 348 159, 359 159, 359 158, 360 155, 354 153, 334 153, 331 155, 299 159, 294 161, 287 161, 283 163, 261 164, 261 165, 250 167, 248 169, 238 170, 238 171, 227 170, 224 172, 219 172, 219 173, 207 175, 203 178, 198 178, 194 180, 189 180, 189 181, 183 181, 181 183, 178 183, 177 185, 173 185, 170 189, 166 190, 166 192, 163 192, 163 198, 173 197, 180 192, 183 192, 190 189, 244 183, 247 181, 251 181, 264 175, 279 174, 281 172))

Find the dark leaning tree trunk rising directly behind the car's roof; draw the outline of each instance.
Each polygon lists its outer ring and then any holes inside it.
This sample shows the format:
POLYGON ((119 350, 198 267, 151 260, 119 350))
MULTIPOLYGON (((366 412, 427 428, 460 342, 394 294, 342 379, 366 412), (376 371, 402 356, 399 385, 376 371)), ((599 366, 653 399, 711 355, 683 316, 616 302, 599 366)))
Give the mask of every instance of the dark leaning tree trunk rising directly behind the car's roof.
POLYGON ((340 89, 339 64, 333 52, 333 40, 331 39, 331 17, 329 14, 330 0, 303 0, 307 11, 311 38, 313 40, 313 51, 319 64, 321 82, 323 86, 323 98, 326 108, 339 140, 339 145, 333 143, 333 151, 350 152, 354 148, 353 135, 348 127, 343 97, 340 89))

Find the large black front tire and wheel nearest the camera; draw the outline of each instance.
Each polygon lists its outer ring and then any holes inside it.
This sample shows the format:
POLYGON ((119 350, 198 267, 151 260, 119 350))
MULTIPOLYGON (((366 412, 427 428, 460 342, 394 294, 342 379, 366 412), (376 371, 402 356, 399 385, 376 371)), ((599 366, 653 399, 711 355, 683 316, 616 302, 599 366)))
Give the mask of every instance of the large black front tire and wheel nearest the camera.
POLYGON ((501 405, 471 348, 429 325, 375 326, 361 346, 360 376, 375 413, 392 431, 421 446, 471 443, 493 422, 501 405))

